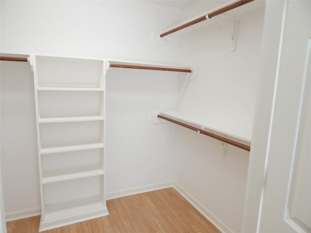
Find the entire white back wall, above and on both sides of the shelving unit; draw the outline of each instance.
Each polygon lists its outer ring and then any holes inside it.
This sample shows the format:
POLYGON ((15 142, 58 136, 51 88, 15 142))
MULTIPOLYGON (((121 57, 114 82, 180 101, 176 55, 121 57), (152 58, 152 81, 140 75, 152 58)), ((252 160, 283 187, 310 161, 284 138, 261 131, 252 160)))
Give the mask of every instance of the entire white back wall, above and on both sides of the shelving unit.
MULTIPOLYGON (((180 18, 179 10, 144 1, 1 0, 0 47, 2 53, 178 64, 180 48, 155 45, 152 31, 180 18)), ((27 67, 1 62, 1 84, 6 83, 1 85, 6 214, 39 207, 34 89, 27 67)), ((149 111, 174 107, 177 92, 173 72, 109 70, 107 193, 173 180, 172 131, 153 125, 149 111)))

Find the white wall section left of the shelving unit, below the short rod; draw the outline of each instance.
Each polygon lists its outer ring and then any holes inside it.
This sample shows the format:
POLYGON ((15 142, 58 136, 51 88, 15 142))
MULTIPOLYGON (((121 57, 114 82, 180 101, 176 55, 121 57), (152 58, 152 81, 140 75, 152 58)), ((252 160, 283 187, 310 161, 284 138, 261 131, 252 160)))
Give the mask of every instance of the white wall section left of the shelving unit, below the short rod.
POLYGON ((35 94, 28 63, 0 65, 1 175, 8 214, 40 207, 35 94))

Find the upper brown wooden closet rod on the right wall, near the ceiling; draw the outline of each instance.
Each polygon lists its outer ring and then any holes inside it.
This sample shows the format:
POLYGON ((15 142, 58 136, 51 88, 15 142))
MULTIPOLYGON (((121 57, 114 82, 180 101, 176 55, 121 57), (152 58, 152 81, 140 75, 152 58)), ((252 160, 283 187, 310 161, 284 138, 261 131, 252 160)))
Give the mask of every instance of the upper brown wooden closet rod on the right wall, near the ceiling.
POLYGON ((160 37, 164 37, 166 35, 169 35, 169 34, 172 34, 174 32, 177 32, 179 30, 182 30, 184 28, 187 28, 187 27, 189 27, 189 26, 191 26, 193 24, 202 22, 202 21, 206 20, 207 18, 212 18, 214 16, 218 16, 218 15, 220 15, 222 13, 225 13, 225 12, 227 12, 229 10, 232 10, 234 8, 242 6, 242 5, 244 5, 244 4, 248 3, 248 2, 251 2, 251 1, 253 1, 253 0, 239 0, 239 1, 234 2, 234 3, 230 4, 230 5, 227 5, 227 6, 223 7, 223 8, 220 8, 220 9, 218 9, 216 11, 213 11, 213 12, 207 14, 206 16, 202 16, 202 17, 193 19, 192 21, 190 21, 188 23, 182 24, 182 25, 180 25, 180 26, 178 26, 176 28, 173 28, 172 30, 170 30, 168 32, 162 33, 162 34, 160 34, 160 37))

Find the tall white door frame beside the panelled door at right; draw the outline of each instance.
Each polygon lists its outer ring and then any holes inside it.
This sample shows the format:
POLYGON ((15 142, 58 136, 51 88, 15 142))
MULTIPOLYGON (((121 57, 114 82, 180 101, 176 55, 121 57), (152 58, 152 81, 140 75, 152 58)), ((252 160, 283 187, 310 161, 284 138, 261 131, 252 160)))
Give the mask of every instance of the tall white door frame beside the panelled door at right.
POLYGON ((256 233, 259 229, 261 205, 268 178, 269 143, 275 109, 278 68, 281 60, 285 7, 286 3, 283 0, 266 1, 263 49, 242 225, 243 233, 256 233))

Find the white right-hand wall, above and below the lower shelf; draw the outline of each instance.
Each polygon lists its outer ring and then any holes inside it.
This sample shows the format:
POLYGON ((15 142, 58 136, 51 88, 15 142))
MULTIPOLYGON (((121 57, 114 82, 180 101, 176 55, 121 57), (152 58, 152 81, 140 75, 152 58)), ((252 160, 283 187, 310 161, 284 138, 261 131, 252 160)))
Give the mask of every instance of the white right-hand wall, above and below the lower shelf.
MULTIPOLYGON (((184 10, 184 19, 208 10, 202 1, 184 10)), ((213 2, 211 2, 213 3, 213 2)), ((211 8, 214 6, 211 6, 211 8)), ((236 51, 221 25, 184 34, 185 63, 199 67, 179 110, 217 118, 252 132, 264 9, 239 16, 236 51)), ((225 21, 227 24, 227 21, 225 21)), ((176 182, 232 232, 242 231, 249 152, 178 127, 176 182)))

